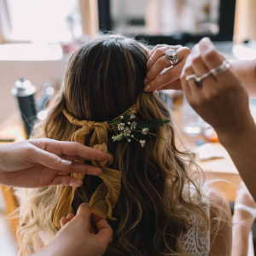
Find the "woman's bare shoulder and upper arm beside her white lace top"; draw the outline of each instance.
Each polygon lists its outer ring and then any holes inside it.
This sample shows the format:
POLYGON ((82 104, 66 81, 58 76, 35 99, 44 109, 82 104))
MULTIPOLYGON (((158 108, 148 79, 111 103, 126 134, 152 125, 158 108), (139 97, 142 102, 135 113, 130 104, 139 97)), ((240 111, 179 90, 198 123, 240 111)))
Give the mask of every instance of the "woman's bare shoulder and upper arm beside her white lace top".
POLYGON ((211 190, 208 193, 210 201, 210 255, 231 255, 232 222, 229 202, 218 192, 211 190))

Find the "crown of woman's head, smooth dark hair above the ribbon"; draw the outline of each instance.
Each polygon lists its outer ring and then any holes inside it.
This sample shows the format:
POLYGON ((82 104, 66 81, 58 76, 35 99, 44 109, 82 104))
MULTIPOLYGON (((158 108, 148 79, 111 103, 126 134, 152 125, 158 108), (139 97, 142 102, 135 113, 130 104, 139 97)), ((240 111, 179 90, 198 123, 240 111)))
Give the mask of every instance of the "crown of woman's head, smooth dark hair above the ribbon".
POLYGON ((120 36, 84 44, 67 69, 67 111, 78 119, 105 121, 130 108, 143 92, 147 55, 143 44, 120 36))

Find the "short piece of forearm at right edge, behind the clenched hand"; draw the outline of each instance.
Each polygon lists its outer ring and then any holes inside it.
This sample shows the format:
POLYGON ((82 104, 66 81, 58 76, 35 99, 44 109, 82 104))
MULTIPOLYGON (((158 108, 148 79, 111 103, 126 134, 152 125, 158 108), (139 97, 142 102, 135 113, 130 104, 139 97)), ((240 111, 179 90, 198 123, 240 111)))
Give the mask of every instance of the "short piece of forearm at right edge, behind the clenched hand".
POLYGON ((256 96, 256 59, 253 61, 234 61, 232 71, 246 88, 249 96, 256 96))

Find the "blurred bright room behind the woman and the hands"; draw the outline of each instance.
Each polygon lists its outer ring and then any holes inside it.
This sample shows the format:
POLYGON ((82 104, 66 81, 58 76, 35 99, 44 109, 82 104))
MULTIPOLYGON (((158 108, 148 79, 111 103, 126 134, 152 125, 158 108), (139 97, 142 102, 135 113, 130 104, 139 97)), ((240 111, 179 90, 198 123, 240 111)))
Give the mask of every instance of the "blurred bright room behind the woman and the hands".
MULTIPOLYGON (((0 142, 30 135, 33 123, 47 114, 45 107, 61 85, 73 50, 108 32, 152 46, 191 47, 207 36, 230 61, 252 60, 256 58, 256 1, 0 0, 0 142)), ((175 109, 177 102, 182 102, 180 95, 168 91, 162 96, 175 109)), ((252 99, 254 112, 255 106, 252 99)), ((195 115, 186 101, 174 115, 182 124, 180 130, 195 137, 189 142, 190 148, 206 141, 218 142, 211 127, 195 115)), ((213 152, 213 158, 217 154, 224 162, 220 162, 221 167, 213 164, 208 169, 228 168, 233 175, 235 166, 219 150, 213 152)), ((228 195, 230 200, 232 193, 228 195)), ((0 207, 5 214, 15 209, 18 201, 12 189, 3 188, 2 194, 0 207)), ((8 224, 5 218, 1 221, 1 255, 15 255, 16 220, 8 224), (2 248, 6 249, 4 253, 2 248)))

